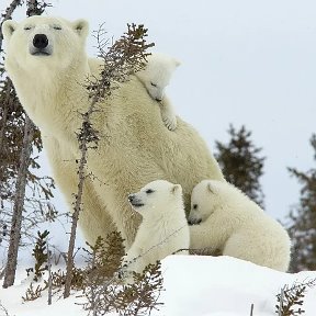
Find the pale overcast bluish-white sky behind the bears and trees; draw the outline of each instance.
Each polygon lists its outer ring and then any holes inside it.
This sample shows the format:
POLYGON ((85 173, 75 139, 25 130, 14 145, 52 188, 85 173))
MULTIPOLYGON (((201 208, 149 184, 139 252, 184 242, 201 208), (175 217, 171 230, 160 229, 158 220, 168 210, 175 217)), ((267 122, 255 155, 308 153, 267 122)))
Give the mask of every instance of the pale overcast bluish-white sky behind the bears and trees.
MULTIPOLYGON (((286 167, 315 168, 308 143, 316 132, 315 1, 55 0, 53 4, 50 15, 86 18, 91 31, 105 22, 109 37, 121 36, 126 23, 144 23, 155 49, 182 63, 168 88, 179 115, 211 149, 215 139, 228 140, 229 123, 245 124, 268 157, 262 178, 267 211, 278 218, 287 214, 300 187, 286 167)), ((90 36, 91 55, 93 45, 90 36)))

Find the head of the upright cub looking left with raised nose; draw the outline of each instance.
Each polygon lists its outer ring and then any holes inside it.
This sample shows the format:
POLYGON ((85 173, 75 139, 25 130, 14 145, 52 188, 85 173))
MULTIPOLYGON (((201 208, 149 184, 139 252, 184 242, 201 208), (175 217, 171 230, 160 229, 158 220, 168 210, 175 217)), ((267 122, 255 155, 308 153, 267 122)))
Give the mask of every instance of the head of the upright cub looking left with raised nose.
POLYGON ((153 212, 168 212, 168 206, 172 207, 172 203, 174 204, 176 201, 182 203, 181 185, 165 180, 153 181, 142 188, 139 192, 128 195, 132 207, 143 216, 153 214, 153 212))

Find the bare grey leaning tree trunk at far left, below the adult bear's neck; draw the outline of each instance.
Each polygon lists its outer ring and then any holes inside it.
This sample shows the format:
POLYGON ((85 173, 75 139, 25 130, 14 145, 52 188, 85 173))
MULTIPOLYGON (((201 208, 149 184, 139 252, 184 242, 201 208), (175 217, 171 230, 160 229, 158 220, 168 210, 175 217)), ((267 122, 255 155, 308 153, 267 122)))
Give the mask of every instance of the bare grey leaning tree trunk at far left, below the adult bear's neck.
POLYGON ((23 148, 21 151, 21 162, 15 184, 14 206, 13 206, 10 242, 5 264, 3 287, 13 285, 15 279, 15 270, 18 264, 18 250, 21 238, 22 212, 24 206, 26 174, 32 151, 31 149, 32 149, 33 132, 34 132, 33 123, 26 115, 24 125, 23 148))

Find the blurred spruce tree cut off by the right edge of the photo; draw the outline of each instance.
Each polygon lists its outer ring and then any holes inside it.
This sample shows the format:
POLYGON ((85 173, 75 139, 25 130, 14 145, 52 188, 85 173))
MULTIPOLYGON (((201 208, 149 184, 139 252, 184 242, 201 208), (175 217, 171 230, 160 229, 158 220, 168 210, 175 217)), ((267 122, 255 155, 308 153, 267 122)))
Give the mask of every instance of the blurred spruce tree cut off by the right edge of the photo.
MULTIPOLYGON (((316 134, 311 138, 316 160, 316 134)), ((291 271, 316 270, 316 168, 305 172, 287 168, 301 187, 297 205, 293 206, 287 230, 292 239, 291 271)))

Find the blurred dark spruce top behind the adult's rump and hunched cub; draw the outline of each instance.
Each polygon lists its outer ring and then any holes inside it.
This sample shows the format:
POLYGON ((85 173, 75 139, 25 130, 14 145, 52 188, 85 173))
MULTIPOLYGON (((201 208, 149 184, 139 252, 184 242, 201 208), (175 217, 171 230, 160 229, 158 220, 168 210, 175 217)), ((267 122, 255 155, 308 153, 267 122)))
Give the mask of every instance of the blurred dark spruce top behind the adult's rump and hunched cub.
POLYGON ((251 132, 242 125, 236 131, 230 124, 228 144, 215 142, 217 159, 225 179, 239 188, 251 200, 263 206, 264 194, 260 184, 263 174, 266 157, 260 157, 262 150, 257 148, 250 139, 251 132))

